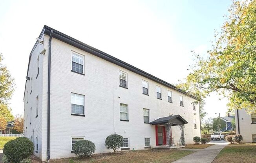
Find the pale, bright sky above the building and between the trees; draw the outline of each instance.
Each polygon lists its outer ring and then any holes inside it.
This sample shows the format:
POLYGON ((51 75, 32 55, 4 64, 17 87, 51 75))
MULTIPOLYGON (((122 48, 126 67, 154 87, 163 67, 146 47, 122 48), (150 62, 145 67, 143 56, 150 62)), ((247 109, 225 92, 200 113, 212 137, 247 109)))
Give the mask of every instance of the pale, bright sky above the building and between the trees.
MULTIPOLYGON (((29 53, 43 25, 130 63, 166 82, 188 74, 192 53, 204 55, 228 14, 230 0, 0 0, 0 53, 15 78, 13 114, 23 113, 29 53)), ((208 117, 227 100, 206 99, 208 117)))

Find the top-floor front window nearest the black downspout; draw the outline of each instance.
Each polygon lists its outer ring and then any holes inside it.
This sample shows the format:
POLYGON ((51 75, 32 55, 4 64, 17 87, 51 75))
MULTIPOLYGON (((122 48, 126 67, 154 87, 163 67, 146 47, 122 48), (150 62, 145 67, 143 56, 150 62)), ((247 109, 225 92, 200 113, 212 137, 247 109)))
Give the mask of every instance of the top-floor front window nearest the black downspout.
POLYGON ((72 71, 84 73, 84 56, 72 53, 72 71))

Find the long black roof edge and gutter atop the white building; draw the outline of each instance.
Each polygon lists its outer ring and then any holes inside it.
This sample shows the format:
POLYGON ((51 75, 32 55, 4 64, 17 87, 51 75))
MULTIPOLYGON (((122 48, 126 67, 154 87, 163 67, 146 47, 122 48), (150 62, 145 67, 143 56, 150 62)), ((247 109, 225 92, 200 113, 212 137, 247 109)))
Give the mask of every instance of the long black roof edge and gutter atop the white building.
POLYGON ((190 96, 191 98, 194 98, 195 100, 198 100, 195 96, 189 94, 188 92, 182 91, 181 89, 177 89, 177 87, 175 87, 174 85, 172 85, 172 84, 170 84, 168 82, 165 82, 165 81, 163 81, 163 80, 161 80, 161 79, 159 79, 159 78, 157 78, 157 77, 155 77, 155 76, 153 76, 153 75, 151 75, 151 74, 149 74, 147 72, 142 71, 141 69, 138 69, 138 68, 136 68, 136 67, 126 63, 126 62, 123 62, 123 61, 121 61, 121 60, 119 60, 119 59, 117 59, 117 58, 107 54, 107 53, 104 53, 104 52, 102 52, 102 51, 100 51, 98 49, 95 49, 94 47, 91 47, 90 45, 87 45, 87 44, 85 44, 83 42, 80 42, 79 40, 76 40, 75 38, 72 38, 72 37, 70 37, 70 36, 68 36, 68 35, 66 35, 64 33, 61 33, 61 32, 59 32, 59 31, 57 31, 55 29, 52 29, 51 27, 48 27, 47 25, 44 25, 43 31, 44 31, 45 34, 49 35, 51 30, 53 30, 53 37, 58 39, 58 40, 60 40, 60 41, 62 41, 62 42, 66 42, 69 45, 77 47, 77 48, 79 48, 79 49, 81 49, 83 51, 91 53, 91 54, 93 54, 95 56, 98 56, 98 57, 104 59, 104 60, 107 60, 107 61, 112 62, 112 63, 114 63, 116 65, 119 65, 119 66, 121 66, 121 67, 123 67, 125 69, 128 69, 128 70, 130 70, 132 72, 135 72, 136 74, 144 76, 145 78, 148 78, 148 79, 153 80, 153 81, 155 81, 157 83, 165 85, 166 87, 174 89, 174 90, 176 90, 178 92, 181 92, 181 93, 183 93, 183 94, 185 94, 187 96, 190 96))

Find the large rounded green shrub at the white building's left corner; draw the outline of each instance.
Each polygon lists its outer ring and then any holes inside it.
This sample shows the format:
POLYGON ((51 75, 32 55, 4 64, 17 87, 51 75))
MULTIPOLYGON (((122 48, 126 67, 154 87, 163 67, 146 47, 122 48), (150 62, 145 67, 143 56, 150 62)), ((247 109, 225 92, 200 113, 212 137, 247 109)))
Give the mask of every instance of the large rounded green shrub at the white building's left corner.
POLYGON ((3 153, 13 163, 19 163, 33 154, 34 145, 28 138, 20 137, 8 141, 4 145, 3 153))

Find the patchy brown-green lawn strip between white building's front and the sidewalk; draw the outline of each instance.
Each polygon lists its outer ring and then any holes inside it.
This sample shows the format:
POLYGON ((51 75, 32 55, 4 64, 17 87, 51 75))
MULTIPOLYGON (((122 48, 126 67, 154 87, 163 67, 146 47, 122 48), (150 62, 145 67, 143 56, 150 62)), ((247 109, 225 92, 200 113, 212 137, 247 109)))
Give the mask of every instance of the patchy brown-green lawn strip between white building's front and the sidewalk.
POLYGON ((51 163, 170 163, 193 151, 187 150, 135 150, 93 155, 91 158, 66 158, 51 163))

